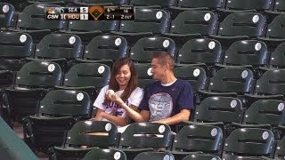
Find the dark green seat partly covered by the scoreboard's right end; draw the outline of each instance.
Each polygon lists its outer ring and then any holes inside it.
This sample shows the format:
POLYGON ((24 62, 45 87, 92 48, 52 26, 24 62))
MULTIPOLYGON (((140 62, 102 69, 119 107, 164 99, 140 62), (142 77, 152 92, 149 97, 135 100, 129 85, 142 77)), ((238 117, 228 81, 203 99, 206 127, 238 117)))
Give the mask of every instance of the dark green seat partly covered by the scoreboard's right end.
POLYGON ((124 36, 132 46, 142 37, 166 33, 170 21, 165 10, 135 8, 134 20, 121 20, 118 32, 113 32, 113 34, 124 36))

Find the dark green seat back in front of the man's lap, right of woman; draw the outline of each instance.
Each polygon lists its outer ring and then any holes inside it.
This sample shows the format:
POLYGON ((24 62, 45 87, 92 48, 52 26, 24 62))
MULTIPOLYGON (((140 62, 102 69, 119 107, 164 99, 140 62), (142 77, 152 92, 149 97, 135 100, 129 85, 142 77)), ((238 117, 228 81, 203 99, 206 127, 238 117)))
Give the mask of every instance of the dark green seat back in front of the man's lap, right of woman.
POLYGON ((168 148, 171 145, 171 130, 167 124, 129 124, 119 140, 121 148, 168 148))

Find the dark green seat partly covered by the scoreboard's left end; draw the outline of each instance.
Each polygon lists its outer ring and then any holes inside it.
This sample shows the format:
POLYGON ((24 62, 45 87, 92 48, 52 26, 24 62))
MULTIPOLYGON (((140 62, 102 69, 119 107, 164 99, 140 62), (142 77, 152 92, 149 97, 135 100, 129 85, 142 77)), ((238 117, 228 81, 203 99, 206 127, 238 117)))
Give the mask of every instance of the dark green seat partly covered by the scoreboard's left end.
POLYGON ((54 4, 31 4, 28 5, 18 16, 16 30, 28 33, 37 43, 44 36, 53 31, 66 28, 65 20, 45 20, 45 7, 61 7, 54 4))

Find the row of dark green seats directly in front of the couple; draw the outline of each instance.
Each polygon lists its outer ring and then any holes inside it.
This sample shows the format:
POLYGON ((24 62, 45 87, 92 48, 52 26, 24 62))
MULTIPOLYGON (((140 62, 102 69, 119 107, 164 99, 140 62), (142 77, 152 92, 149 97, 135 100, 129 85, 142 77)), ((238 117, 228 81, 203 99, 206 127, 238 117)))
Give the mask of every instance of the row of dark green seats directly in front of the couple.
MULTIPOLYGON (((126 153, 127 159, 134 159, 145 151, 164 151, 175 159, 183 159, 193 153, 220 156, 224 160, 242 156, 285 156, 285 138, 275 140, 271 129, 241 127, 224 136, 223 130, 215 124, 193 123, 184 125, 173 134, 167 124, 134 123, 122 133, 118 130, 115 124, 108 122, 79 121, 64 136, 62 146, 50 148, 48 154, 51 159, 76 159, 94 148, 117 148, 126 153)), ((47 136, 38 131, 30 138, 38 140, 37 147, 43 147, 41 145, 45 145, 45 141, 41 140, 47 136)))

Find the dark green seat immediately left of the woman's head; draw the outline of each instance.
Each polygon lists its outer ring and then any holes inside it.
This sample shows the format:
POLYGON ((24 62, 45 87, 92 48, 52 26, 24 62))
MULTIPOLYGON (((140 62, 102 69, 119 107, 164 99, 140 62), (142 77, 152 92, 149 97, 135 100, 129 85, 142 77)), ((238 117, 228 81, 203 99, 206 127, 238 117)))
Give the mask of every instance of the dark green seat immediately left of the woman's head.
POLYGON ((63 90, 80 90, 89 94, 95 100, 101 88, 109 83, 110 68, 100 63, 79 63, 69 69, 64 76, 63 86, 56 86, 63 90), (92 69, 86 69, 92 68, 92 69))

